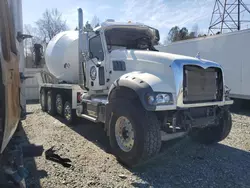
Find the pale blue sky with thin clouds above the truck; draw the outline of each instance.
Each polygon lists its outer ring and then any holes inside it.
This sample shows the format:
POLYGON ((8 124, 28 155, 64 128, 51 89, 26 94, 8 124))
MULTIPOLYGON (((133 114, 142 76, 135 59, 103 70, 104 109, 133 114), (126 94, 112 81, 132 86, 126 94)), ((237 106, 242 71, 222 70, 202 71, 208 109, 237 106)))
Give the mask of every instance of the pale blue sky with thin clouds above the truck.
MULTIPOLYGON (((223 1, 223 0, 222 0, 223 1)), ((229 0, 230 1, 230 0, 229 0)), ((234 1, 234 0, 233 0, 234 1)), ((175 25, 192 30, 198 24, 206 33, 215 0, 23 0, 24 24, 33 25, 42 13, 57 8, 71 29, 77 26, 77 8, 84 12, 84 22, 96 15, 101 21, 141 22, 159 29, 161 39, 175 25)), ((250 0, 245 0, 250 4, 250 0)))

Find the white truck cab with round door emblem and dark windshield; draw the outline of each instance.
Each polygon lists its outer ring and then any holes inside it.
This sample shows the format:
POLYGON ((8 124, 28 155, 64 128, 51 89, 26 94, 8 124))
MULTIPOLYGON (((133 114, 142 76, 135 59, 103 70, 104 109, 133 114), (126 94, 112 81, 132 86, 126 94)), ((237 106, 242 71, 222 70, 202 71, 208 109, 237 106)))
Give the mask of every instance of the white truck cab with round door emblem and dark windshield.
POLYGON ((108 94, 118 77, 140 66, 132 57, 134 50, 157 51, 154 45, 158 44, 159 32, 138 23, 104 22, 88 38, 86 87, 93 93, 103 90, 108 94))

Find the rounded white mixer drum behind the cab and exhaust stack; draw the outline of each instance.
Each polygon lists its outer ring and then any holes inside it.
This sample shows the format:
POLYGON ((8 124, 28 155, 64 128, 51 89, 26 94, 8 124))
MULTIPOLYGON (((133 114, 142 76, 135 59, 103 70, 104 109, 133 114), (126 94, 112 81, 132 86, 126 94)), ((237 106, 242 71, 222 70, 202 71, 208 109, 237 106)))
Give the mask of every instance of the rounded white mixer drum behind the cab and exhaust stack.
POLYGON ((57 34, 46 48, 45 61, 49 72, 59 80, 78 83, 78 31, 57 34))

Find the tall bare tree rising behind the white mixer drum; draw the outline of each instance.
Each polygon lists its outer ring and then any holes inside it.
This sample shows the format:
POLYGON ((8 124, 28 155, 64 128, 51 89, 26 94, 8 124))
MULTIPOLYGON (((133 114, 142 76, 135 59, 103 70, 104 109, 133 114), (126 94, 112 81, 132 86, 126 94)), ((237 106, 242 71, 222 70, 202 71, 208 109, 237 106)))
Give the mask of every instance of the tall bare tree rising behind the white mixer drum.
POLYGON ((42 18, 36 22, 43 40, 48 42, 56 34, 67 30, 66 20, 62 19, 62 14, 57 9, 46 10, 42 18))

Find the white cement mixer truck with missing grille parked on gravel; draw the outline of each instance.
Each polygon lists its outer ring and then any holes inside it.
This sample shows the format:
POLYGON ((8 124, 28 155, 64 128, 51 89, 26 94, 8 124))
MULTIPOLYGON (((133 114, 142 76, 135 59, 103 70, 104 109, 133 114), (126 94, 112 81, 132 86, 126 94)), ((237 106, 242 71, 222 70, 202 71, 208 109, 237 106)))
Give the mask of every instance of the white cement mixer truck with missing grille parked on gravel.
POLYGON ((227 137, 233 103, 215 62, 158 52, 158 30, 104 22, 58 34, 48 44, 42 110, 104 123, 113 154, 128 166, 155 156, 161 142, 189 135, 202 144, 227 137))

